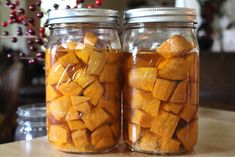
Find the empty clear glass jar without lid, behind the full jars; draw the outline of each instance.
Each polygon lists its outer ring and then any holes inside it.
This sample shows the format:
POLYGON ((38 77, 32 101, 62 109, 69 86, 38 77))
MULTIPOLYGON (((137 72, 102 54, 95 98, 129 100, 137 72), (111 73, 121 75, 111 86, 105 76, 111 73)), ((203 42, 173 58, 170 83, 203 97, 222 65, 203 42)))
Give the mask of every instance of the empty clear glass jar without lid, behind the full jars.
POLYGON ((17 109, 15 140, 31 140, 46 136, 45 104, 24 105, 17 109))

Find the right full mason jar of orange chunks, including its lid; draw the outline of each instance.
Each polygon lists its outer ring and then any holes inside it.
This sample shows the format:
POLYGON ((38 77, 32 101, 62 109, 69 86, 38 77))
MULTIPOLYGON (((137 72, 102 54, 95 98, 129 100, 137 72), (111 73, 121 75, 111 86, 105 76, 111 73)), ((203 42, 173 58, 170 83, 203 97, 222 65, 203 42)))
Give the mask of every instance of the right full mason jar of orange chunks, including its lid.
POLYGON ((195 24, 192 9, 125 12, 124 140, 133 151, 182 154, 197 142, 195 24))

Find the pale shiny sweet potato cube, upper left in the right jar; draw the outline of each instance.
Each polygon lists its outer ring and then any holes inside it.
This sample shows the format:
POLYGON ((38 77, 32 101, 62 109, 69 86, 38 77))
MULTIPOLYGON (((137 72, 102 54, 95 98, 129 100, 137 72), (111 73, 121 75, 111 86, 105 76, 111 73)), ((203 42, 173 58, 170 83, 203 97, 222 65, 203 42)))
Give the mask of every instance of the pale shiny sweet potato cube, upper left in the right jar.
POLYGON ((129 85, 133 88, 152 91, 157 78, 156 68, 136 68, 129 73, 129 85))

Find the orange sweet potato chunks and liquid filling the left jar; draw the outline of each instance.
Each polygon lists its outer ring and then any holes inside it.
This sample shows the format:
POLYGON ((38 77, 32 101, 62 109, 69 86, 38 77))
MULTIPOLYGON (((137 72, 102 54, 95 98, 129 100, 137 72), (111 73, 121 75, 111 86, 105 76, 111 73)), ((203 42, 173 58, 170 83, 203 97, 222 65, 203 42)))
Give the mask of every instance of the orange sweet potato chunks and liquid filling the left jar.
POLYGON ((96 49, 90 32, 84 43, 68 41, 46 54, 49 141, 68 152, 112 148, 120 136, 119 55, 96 49))

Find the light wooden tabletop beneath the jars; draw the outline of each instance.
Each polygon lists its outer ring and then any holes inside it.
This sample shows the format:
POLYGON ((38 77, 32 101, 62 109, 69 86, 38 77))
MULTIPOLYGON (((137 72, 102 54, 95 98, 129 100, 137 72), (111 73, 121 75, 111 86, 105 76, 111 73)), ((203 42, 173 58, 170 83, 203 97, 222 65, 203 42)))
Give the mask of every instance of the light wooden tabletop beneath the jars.
MULTIPOLYGON (((200 109, 199 141, 191 157, 235 157, 235 112, 200 109)), ((121 150, 121 151, 120 151, 121 150)), ((0 157, 147 157, 122 151, 99 155, 67 154, 54 150, 46 137, 0 145, 0 157)), ((173 157, 173 156, 171 156, 173 157)))

